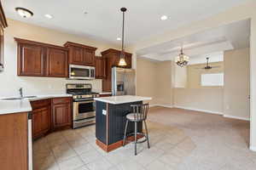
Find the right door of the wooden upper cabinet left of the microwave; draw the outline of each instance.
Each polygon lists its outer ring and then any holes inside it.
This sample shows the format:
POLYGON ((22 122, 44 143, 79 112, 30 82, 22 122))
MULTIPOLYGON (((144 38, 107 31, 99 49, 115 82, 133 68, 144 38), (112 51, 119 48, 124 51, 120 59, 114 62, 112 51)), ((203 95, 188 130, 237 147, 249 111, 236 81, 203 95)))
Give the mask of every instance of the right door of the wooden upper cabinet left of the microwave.
POLYGON ((47 49, 47 77, 68 77, 66 50, 47 49))

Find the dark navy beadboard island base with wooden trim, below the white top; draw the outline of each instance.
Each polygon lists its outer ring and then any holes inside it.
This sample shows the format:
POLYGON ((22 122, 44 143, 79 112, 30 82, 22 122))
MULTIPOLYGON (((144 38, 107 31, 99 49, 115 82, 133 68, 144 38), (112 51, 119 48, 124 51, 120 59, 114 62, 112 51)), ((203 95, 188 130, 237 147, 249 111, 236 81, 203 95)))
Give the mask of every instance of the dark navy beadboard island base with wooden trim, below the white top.
MULTIPOLYGON (((131 113, 131 105, 142 104, 142 101, 112 105, 96 101, 96 144, 107 152, 122 146, 125 133, 126 115, 131 113), (106 114, 103 114, 104 111, 106 114)), ((127 133, 134 132, 134 122, 129 122, 127 133)), ((143 132, 143 123, 137 123, 137 132, 143 132)), ((143 136, 137 135, 140 139, 143 136)), ((134 140, 134 136, 127 138, 134 140)))

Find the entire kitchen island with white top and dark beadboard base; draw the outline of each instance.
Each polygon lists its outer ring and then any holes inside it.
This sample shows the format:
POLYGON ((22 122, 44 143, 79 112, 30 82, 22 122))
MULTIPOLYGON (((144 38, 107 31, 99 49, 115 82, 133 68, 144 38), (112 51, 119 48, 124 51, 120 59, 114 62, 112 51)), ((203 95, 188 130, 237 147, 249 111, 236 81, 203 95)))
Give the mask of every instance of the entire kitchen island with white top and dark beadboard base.
MULTIPOLYGON (((122 146, 126 115, 131 113, 131 105, 150 99, 131 95, 96 98, 96 144, 107 152, 122 146)), ((138 123, 137 129, 142 132, 143 124, 138 123)), ((127 128, 127 133, 131 132, 134 132, 134 123, 129 123, 127 128)))

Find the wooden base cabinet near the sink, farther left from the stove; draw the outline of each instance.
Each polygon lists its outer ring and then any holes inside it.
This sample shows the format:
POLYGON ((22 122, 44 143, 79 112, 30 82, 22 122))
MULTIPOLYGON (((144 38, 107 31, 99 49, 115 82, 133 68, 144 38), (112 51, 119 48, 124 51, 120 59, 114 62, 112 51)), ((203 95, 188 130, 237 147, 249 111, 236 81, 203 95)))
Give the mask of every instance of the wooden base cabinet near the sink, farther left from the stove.
POLYGON ((38 139, 49 133, 51 122, 50 99, 32 101, 32 137, 38 139))

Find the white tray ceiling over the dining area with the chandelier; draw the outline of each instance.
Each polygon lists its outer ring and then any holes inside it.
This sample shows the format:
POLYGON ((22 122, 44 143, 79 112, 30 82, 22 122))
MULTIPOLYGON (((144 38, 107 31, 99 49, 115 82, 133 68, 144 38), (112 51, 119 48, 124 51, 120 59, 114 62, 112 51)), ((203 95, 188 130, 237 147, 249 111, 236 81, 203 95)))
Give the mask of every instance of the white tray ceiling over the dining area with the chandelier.
POLYGON ((170 60, 177 57, 183 46, 183 53, 190 59, 234 48, 249 47, 250 20, 241 20, 229 25, 201 31, 188 37, 178 38, 137 51, 138 57, 153 60, 170 60))

